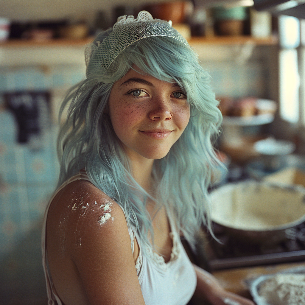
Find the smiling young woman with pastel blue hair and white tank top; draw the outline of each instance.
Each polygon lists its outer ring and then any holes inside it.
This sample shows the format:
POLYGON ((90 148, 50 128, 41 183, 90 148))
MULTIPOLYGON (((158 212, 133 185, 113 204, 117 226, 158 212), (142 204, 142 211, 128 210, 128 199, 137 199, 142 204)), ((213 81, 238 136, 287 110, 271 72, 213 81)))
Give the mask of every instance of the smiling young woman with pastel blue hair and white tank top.
POLYGON ((208 222, 221 113, 196 53, 169 23, 122 16, 86 49, 59 133, 42 233, 49 304, 251 305, 189 261, 208 222))

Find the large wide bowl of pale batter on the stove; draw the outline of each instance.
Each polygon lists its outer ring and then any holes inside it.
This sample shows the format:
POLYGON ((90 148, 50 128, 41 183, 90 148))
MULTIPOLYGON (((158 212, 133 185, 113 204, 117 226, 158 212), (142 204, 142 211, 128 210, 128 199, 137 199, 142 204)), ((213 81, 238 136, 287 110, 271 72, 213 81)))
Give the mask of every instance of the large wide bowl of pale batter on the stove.
POLYGON ((212 221, 250 243, 281 242, 305 221, 305 188, 299 186, 230 183, 211 192, 210 199, 212 221))

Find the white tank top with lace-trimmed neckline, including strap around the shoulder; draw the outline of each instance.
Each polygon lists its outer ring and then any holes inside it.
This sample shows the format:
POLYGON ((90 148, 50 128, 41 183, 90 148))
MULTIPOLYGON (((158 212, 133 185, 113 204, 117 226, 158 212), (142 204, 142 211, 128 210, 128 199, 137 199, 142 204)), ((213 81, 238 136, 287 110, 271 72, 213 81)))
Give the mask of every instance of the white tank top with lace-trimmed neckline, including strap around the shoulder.
MULTIPOLYGON (((48 269, 47 250, 45 245, 48 210, 52 200, 58 192, 69 183, 77 180, 90 181, 84 172, 71 177, 53 194, 45 211, 41 236, 41 251, 47 285, 48 305, 63 305, 59 296, 56 294, 48 269)), ((182 246, 180 236, 170 217, 169 220, 172 230, 170 237, 173 239, 173 248, 170 254, 170 260, 167 263, 165 263, 162 256, 153 252, 151 248, 147 249, 147 255, 142 255, 140 239, 132 228, 128 228, 132 253, 134 252, 134 238, 136 238, 140 248, 135 268, 145 305, 185 305, 191 299, 196 289, 197 279, 195 270, 182 246)))

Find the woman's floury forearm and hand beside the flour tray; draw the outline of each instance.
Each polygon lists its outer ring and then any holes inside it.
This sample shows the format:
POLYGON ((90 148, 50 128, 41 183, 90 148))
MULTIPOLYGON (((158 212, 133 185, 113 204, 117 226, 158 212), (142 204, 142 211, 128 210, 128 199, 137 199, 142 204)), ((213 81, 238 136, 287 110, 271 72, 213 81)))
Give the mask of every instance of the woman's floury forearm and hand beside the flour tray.
POLYGON ((213 305, 255 305, 251 300, 223 289, 209 272, 193 265, 197 275, 195 295, 208 300, 213 305))

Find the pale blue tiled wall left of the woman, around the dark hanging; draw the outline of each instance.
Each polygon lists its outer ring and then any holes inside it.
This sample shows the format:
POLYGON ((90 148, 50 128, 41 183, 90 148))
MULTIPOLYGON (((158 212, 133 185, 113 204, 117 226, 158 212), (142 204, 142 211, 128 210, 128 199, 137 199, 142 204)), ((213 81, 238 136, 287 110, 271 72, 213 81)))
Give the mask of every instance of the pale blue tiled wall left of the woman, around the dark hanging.
MULTIPOLYGON (((77 66, 0 68, 0 105, 4 92, 52 92, 83 78, 77 66)), ((57 130, 44 131, 39 149, 20 145, 13 114, 0 110, 0 305, 47 302, 40 232, 59 174, 57 130)))

